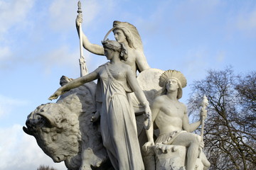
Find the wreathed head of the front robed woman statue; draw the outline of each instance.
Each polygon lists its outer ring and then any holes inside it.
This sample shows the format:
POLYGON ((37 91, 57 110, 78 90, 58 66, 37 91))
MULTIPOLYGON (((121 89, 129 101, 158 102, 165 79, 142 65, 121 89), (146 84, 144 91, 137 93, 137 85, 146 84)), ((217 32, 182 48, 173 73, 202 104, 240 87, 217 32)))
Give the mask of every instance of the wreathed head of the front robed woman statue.
POLYGON ((127 47, 125 47, 124 43, 119 43, 114 40, 104 40, 104 41, 102 41, 102 45, 104 47, 105 55, 108 60, 111 60, 112 56, 110 56, 110 55, 112 55, 112 52, 119 52, 120 60, 127 61, 128 51, 127 51, 127 47))

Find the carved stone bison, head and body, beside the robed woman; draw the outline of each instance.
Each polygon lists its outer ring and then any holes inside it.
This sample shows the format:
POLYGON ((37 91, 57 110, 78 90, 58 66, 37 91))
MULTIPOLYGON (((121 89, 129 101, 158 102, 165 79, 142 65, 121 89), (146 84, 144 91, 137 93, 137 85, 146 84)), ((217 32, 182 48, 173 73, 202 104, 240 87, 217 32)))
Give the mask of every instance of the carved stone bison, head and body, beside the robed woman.
POLYGON ((38 106, 28 115, 29 135, 54 162, 65 161, 68 169, 90 166, 101 169, 108 161, 98 125, 90 122, 95 111, 95 83, 63 94, 56 103, 38 106))

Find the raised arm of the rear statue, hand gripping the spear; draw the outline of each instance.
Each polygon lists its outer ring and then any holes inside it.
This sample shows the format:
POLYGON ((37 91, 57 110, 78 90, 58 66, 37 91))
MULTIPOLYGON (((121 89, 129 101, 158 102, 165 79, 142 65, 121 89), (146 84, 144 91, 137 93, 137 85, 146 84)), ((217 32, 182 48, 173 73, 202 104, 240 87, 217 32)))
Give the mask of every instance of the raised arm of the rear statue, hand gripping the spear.
MULTIPOLYGON (((78 14, 75 20, 75 23, 76 23, 76 28, 78 30, 78 35, 79 35, 79 26, 81 26, 82 24, 81 14, 78 14)), ((95 55, 104 55, 104 48, 101 45, 92 44, 83 32, 82 32, 82 45, 83 47, 85 47, 86 50, 88 50, 89 52, 92 52, 95 55)))

